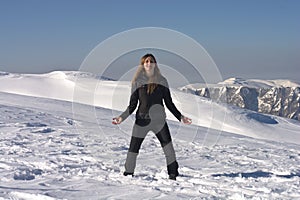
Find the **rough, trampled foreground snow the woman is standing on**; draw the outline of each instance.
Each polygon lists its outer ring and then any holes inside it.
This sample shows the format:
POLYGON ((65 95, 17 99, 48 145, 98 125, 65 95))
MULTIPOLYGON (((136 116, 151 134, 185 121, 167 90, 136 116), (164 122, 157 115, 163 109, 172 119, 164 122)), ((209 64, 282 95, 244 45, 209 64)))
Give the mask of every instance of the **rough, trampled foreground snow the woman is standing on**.
POLYGON ((0 94, 0 199, 300 198, 299 145, 210 130, 219 140, 206 147, 207 128, 183 126, 182 137, 169 121, 182 176, 167 179, 149 133, 136 176, 124 177, 132 122, 117 127, 111 110, 77 106, 74 115, 70 102, 0 94))

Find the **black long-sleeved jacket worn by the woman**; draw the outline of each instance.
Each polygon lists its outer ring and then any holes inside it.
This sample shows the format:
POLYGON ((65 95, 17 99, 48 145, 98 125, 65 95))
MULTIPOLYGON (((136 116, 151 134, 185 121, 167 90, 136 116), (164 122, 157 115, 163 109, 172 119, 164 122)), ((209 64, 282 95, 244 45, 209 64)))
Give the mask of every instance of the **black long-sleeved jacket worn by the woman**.
POLYGON ((129 106, 120 117, 125 120, 133 113, 139 102, 136 119, 165 120, 166 113, 163 104, 164 100, 165 105, 171 113, 181 121, 181 113, 177 110, 172 101, 167 79, 161 76, 157 83, 157 87, 151 94, 147 93, 147 82, 148 78, 145 75, 142 75, 132 85, 129 106))

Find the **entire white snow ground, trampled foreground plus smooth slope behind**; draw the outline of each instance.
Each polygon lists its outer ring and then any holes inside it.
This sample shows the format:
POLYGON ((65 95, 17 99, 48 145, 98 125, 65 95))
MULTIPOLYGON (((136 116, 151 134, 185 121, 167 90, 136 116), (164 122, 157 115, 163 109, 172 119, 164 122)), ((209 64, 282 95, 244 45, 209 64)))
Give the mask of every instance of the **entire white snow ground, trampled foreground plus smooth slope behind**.
POLYGON ((0 73, 0 199, 299 199, 300 123, 172 89, 193 124, 168 114, 179 162, 167 178, 146 137, 124 177, 130 83, 83 72, 0 73))

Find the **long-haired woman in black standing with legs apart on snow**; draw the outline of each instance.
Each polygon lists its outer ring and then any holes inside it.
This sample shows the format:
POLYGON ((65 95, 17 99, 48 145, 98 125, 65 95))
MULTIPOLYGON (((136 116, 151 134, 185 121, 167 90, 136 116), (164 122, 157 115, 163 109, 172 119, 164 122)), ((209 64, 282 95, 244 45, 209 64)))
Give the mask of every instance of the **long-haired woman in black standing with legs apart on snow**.
POLYGON ((141 58, 140 65, 132 80, 132 93, 129 106, 120 116, 113 118, 113 124, 120 124, 136 109, 136 120, 132 130, 132 137, 125 163, 124 175, 133 175, 136 159, 143 140, 149 131, 153 131, 163 148, 169 178, 176 180, 178 163, 172 144, 170 131, 166 122, 163 100, 172 114, 185 124, 192 120, 183 116, 175 107, 168 82, 160 73, 155 57, 146 54, 141 58))

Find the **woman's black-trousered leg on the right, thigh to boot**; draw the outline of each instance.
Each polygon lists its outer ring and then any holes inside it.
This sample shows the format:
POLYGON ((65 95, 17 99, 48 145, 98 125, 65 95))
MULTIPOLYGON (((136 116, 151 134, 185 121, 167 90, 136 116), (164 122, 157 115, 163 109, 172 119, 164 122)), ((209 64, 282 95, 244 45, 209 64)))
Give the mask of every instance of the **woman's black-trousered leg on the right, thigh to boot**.
POLYGON ((176 155, 167 123, 165 123, 164 127, 158 133, 156 133, 156 137, 166 156, 168 174, 175 175, 175 177, 178 176, 178 163, 176 161, 176 155))

